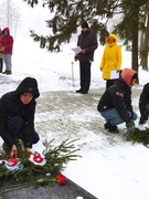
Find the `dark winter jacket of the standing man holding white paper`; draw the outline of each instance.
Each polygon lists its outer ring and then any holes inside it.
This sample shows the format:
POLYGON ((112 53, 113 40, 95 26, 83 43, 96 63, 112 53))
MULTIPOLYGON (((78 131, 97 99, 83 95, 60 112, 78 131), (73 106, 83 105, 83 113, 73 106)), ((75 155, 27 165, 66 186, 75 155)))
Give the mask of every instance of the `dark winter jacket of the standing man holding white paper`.
POLYGON ((78 53, 77 57, 81 62, 94 61, 94 51, 97 49, 97 38, 88 29, 86 32, 83 32, 78 35, 77 46, 81 46, 82 50, 85 50, 85 54, 78 53))

